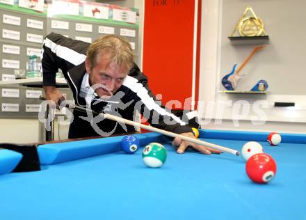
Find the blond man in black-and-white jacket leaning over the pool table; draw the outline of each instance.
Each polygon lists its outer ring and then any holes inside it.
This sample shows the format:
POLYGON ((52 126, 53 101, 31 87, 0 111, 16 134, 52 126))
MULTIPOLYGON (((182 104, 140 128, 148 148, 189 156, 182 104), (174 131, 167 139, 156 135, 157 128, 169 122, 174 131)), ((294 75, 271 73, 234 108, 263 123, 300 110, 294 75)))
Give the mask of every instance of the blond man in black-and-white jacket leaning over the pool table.
MULTIPOLYGON (((55 87, 56 72, 60 68, 77 105, 128 120, 134 120, 134 113, 138 110, 154 127, 195 138, 190 127, 154 102, 147 77, 140 72, 133 58, 131 45, 120 36, 102 36, 89 44, 50 33, 45 38, 42 52, 46 99, 53 100, 57 105, 63 100, 63 95, 55 87)), ((69 138, 132 131, 135 131, 134 127, 74 111, 69 138)), ((173 144, 178 147, 179 153, 188 146, 204 154, 220 153, 219 150, 181 139, 175 139, 173 144)))

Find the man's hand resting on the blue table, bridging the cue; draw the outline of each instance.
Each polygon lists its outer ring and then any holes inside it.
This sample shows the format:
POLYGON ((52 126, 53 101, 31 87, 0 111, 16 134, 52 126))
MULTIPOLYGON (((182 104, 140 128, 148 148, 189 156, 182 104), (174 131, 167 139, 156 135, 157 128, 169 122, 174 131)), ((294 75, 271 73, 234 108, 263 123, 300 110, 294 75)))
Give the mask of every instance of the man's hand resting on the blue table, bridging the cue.
MULTIPOLYGON (((193 139, 196 139, 195 136, 193 135, 192 132, 186 132, 186 133, 182 133, 181 135, 183 136, 188 136, 191 137, 193 139)), ((186 149, 188 148, 188 146, 191 146, 192 148, 194 148, 195 150, 198 150, 200 152, 202 152, 205 155, 211 155, 211 153, 214 154, 220 154, 222 153, 221 150, 216 150, 214 148, 209 148, 209 147, 204 147, 204 146, 200 146, 196 143, 191 143, 188 141, 183 141, 182 139, 180 139, 179 137, 176 137, 173 141, 172 141, 172 146, 178 147, 177 148, 177 152, 179 154, 182 154, 186 151, 186 149)))

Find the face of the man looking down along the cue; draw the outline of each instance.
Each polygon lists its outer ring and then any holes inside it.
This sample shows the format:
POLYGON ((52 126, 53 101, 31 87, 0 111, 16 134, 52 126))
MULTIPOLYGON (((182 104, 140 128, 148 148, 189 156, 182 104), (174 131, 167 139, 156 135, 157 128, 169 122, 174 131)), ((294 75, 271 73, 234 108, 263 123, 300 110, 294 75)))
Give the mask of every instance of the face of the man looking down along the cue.
POLYGON ((102 84, 100 88, 95 89, 95 92, 102 96, 110 96, 122 86, 123 79, 127 76, 128 70, 124 65, 116 65, 111 63, 110 58, 102 55, 99 58, 97 65, 90 69, 88 60, 85 61, 86 71, 89 74, 90 86, 95 84, 102 84))

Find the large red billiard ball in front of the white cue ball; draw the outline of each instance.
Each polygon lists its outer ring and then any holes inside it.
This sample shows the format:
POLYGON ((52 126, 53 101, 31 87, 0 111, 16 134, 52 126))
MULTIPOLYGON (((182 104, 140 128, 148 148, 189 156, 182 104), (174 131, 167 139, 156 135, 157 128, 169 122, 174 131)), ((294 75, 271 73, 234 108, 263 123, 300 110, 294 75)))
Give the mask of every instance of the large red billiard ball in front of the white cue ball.
POLYGON ((266 183, 273 179, 276 173, 276 163, 270 155, 259 153, 248 159, 245 171, 253 182, 266 183))

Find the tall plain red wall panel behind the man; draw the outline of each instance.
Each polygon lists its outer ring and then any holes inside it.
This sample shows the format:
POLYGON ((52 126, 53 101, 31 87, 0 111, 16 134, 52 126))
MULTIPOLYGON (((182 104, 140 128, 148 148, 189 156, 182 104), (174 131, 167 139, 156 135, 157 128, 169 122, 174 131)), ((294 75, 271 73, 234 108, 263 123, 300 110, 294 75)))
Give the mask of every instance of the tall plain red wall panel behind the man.
POLYGON ((194 13, 195 1, 145 0, 143 72, 163 104, 192 95, 194 13))

